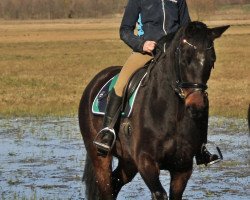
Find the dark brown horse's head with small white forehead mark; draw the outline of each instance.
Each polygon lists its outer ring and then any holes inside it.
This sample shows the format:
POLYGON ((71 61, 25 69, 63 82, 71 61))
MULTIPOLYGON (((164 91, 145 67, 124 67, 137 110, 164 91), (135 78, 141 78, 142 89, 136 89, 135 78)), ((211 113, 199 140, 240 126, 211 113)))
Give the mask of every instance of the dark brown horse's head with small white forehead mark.
POLYGON ((207 81, 216 60, 214 40, 228 28, 208 28, 204 23, 191 22, 183 29, 176 50, 175 90, 192 117, 208 108, 207 81))

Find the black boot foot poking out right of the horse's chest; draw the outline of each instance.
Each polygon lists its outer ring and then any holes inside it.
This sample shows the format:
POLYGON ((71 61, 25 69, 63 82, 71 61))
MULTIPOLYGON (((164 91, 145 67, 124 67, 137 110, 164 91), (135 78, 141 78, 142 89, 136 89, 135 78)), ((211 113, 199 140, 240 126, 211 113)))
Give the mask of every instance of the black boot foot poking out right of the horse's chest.
POLYGON ((195 156, 197 165, 212 165, 221 161, 221 158, 216 154, 211 154, 205 144, 202 145, 201 151, 195 156))

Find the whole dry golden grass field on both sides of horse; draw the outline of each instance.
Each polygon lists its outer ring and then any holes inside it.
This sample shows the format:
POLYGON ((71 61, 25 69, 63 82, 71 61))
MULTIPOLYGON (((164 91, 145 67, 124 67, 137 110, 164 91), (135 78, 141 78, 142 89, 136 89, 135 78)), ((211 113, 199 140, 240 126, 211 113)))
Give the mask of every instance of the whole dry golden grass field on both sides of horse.
MULTIPOLYGON (((0 21, 0 116, 76 115, 86 84, 131 50, 120 41, 120 18, 0 21)), ((231 24, 215 43, 210 114, 245 117, 250 103, 250 19, 231 24)))

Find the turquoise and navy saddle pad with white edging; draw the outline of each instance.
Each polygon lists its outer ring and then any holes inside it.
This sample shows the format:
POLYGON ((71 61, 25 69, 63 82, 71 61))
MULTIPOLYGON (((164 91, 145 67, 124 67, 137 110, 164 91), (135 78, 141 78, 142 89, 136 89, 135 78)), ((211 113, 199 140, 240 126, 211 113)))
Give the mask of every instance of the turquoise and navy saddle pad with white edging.
MULTIPOLYGON (((96 115, 104 115, 105 114, 108 94, 109 94, 109 91, 114 87, 114 85, 117 81, 118 75, 119 74, 115 75, 108 82, 106 82, 105 85, 98 92, 98 94, 96 95, 94 102, 92 104, 92 113, 94 113, 96 115)), ((145 75, 144 75, 144 77, 145 77, 145 75)), ((144 77, 142 78, 142 80, 144 79, 144 77)), ((125 109, 121 113, 123 117, 130 117, 130 115, 132 113, 132 108, 134 105, 135 97, 137 95, 137 92, 139 90, 139 87, 141 85, 142 80, 140 81, 139 85, 137 86, 137 88, 133 92, 133 94, 129 97, 129 100, 125 103, 126 104, 125 109)))

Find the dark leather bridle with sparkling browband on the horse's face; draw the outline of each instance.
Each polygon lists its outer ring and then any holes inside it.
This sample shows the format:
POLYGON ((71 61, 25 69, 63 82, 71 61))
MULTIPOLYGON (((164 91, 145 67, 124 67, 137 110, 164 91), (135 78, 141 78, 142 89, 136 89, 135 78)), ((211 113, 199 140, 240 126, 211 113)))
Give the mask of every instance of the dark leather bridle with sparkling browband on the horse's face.
MULTIPOLYGON (((190 42, 188 42, 186 39, 182 40, 183 43, 189 45, 190 47, 192 47, 194 50, 197 50, 197 46, 191 44, 190 42)), ((203 84, 203 83, 193 83, 193 82, 184 82, 181 78, 181 68, 180 68, 180 62, 181 62, 181 49, 180 49, 180 45, 177 47, 176 51, 175 51, 175 70, 176 70, 176 81, 175 84, 172 84, 172 88, 175 91, 175 93, 183 100, 187 99, 189 95, 191 95, 194 92, 202 92, 205 95, 207 95, 207 85, 203 84), (183 89, 192 89, 191 91, 189 91, 189 93, 185 94, 183 89)), ((209 49, 213 49, 214 46, 210 46, 208 48, 206 48, 205 50, 209 50, 209 49)))

